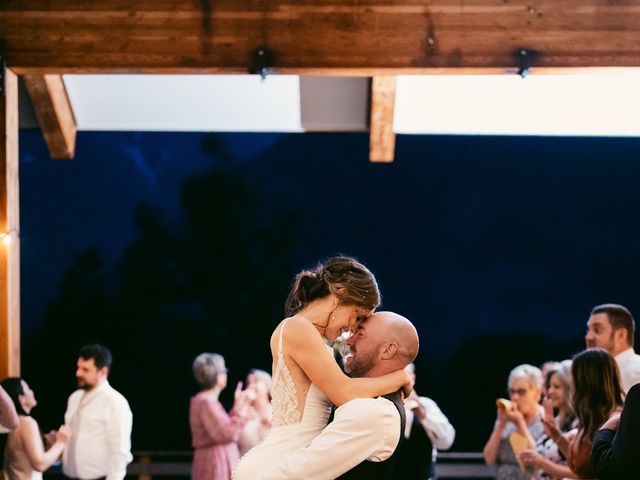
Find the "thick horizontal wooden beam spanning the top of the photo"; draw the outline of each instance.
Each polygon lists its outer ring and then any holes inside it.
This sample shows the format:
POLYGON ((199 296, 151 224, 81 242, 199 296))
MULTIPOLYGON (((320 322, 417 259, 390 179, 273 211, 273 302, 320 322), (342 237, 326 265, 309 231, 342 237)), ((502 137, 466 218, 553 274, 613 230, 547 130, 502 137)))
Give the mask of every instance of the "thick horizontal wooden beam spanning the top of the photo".
POLYGON ((521 49, 532 72, 638 67, 640 4, 3 0, 0 49, 19 74, 504 73, 521 49))

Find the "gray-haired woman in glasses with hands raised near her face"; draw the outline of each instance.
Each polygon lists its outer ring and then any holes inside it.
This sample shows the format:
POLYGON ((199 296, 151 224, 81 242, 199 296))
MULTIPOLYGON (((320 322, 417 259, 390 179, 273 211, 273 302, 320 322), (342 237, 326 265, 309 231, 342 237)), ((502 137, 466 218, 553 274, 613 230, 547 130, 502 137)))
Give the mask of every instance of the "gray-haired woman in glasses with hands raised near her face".
POLYGON ((509 400, 498 399, 498 412, 493 432, 484 447, 484 460, 497 465, 498 480, 529 480, 535 474, 517 455, 535 448, 544 435, 539 405, 542 393, 542 373, 532 365, 519 365, 509 374, 509 400), (514 451, 514 447, 517 451, 514 451))

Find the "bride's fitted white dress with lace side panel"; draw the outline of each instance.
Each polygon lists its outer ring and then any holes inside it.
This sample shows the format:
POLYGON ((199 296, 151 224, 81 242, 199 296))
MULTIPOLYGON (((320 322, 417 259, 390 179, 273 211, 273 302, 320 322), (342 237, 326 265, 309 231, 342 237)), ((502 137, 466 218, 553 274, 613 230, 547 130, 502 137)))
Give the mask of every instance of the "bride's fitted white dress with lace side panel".
MULTIPOLYGON (((299 448, 304 448, 327 425, 331 413, 329 399, 311 384, 302 412, 298 405, 296 386, 284 361, 282 333, 278 339, 278 363, 273 373, 273 423, 265 439, 242 457, 233 473, 234 480, 255 480, 278 465, 280 459, 299 448)), ((327 355, 331 349, 327 347, 327 355)))

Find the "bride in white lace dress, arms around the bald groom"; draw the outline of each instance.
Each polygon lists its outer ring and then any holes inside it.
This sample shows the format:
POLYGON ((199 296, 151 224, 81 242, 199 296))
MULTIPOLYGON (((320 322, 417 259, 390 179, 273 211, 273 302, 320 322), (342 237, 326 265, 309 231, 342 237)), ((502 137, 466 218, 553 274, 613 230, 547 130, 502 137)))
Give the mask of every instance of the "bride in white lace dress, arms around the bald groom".
MULTIPOLYGON (((349 378, 326 341, 356 328, 380 304, 373 274, 350 257, 334 257, 300 272, 285 318, 271 336, 273 423, 267 437, 236 467, 234 480, 256 480, 270 465, 304 448, 326 426, 331 404, 411 389, 403 370, 377 378, 349 378)), ((327 459, 331 461, 331 459, 327 459)))

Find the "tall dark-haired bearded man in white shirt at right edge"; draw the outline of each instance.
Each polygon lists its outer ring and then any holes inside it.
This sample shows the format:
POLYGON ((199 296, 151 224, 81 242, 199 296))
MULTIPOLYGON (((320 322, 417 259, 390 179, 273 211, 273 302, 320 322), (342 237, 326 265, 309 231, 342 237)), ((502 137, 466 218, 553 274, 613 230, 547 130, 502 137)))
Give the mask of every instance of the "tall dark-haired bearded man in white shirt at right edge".
POLYGON ((640 355, 633 350, 635 330, 631 312, 614 303, 593 307, 587 322, 587 348, 604 348, 614 356, 625 393, 640 383, 640 355))

